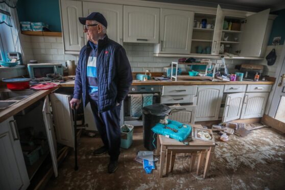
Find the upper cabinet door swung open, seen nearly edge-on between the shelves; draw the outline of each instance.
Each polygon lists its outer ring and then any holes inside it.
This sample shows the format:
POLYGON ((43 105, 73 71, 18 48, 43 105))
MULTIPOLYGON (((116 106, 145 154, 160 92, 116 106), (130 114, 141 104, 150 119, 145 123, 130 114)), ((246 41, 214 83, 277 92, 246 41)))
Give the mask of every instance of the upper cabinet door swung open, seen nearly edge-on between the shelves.
POLYGON ((220 5, 218 5, 217 16, 215 21, 215 29, 213 34, 213 42, 212 42, 212 53, 211 53, 212 55, 219 55, 223 23, 224 23, 224 13, 220 5))

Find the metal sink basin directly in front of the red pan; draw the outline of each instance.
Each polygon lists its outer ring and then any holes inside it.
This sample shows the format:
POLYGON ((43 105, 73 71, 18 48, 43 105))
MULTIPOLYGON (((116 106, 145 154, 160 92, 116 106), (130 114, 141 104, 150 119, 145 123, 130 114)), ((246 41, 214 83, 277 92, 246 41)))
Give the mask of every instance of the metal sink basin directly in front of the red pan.
POLYGON ((3 90, 0 91, 0 100, 22 100, 36 92, 36 90, 3 90))

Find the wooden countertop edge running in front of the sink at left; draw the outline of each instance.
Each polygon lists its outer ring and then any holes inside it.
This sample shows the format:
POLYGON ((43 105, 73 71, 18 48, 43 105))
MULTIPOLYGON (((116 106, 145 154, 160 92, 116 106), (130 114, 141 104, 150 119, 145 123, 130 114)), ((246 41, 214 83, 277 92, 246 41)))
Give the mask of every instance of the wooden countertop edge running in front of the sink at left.
POLYGON ((0 111, 0 123, 4 122, 5 120, 7 120, 7 118, 15 115, 19 111, 27 108, 36 101, 50 94, 52 91, 56 90, 57 88, 59 87, 54 87, 49 90, 39 90, 36 93, 32 94, 30 97, 15 103, 14 105, 4 109, 3 111, 0 111))

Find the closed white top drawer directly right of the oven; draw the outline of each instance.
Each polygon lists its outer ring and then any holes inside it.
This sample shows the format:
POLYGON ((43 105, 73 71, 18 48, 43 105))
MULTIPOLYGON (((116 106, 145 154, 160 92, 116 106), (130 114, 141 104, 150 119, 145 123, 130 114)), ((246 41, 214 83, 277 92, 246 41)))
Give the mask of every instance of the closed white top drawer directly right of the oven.
POLYGON ((197 86, 162 86, 162 95, 196 95, 197 86))

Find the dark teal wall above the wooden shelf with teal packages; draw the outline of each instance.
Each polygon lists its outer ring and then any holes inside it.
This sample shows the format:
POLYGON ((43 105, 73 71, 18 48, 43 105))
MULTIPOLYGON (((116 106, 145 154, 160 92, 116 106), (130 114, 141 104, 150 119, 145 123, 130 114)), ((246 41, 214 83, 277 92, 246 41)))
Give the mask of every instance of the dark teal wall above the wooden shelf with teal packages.
POLYGON ((18 0, 19 21, 44 22, 53 32, 61 32, 59 0, 18 0))

